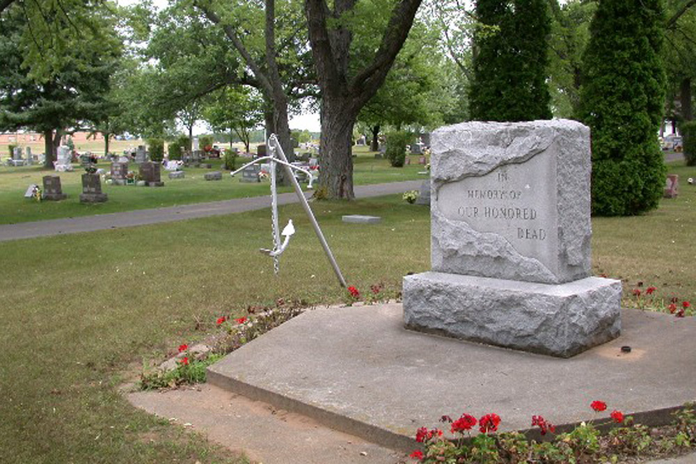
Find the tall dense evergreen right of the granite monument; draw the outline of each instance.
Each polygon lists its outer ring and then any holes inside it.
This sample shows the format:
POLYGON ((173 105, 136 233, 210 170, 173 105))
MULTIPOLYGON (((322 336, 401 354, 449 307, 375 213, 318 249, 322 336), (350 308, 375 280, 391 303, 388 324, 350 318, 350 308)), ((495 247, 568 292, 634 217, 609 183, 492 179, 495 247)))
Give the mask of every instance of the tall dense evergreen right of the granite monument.
POLYGON ((599 0, 580 93, 580 120, 592 129, 593 214, 640 214, 662 196, 663 28, 660 0, 599 0))

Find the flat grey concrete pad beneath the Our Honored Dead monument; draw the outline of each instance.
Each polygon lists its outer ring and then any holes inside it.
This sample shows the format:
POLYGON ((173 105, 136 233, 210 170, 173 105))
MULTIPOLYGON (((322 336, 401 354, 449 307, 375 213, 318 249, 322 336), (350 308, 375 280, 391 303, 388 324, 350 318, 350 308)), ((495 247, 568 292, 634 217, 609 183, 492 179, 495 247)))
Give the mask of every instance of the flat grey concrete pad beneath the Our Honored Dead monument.
POLYGON ((658 425, 696 399, 695 318, 624 310, 620 337, 561 359, 411 332, 402 312, 310 310, 209 367, 208 381, 404 451, 443 414, 496 413, 509 431, 532 415, 560 426, 618 409, 658 425))

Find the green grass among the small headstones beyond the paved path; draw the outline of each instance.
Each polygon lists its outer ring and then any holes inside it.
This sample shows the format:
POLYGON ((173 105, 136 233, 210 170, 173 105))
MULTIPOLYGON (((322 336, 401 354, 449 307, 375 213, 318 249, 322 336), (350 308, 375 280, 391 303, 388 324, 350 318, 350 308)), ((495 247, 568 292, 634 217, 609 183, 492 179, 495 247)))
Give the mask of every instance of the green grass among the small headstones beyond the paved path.
MULTIPOLYGON (((400 180, 424 178, 418 174, 424 171, 424 166, 418 165, 418 157, 412 157, 413 164, 403 168, 392 168, 385 159, 374 159, 374 153, 367 152, 365 147, 358 147, 354 158, 354 179, 356 185, 379 184, 400 180)), ((237 159, 241 166, 243 158, 237 159)), ((246 159, 248 161, 248 159, 246 159)), ((220 169, 222 161, 209 160, 213 170, 220 169)), ((167 172, 162 170, 161 177, 164 187, 148 188, 136 186, 117 186, 102 183, 102 191, 109 195, 104 203, 83 204, 79 202, 82 192, 81 174, 84 170, 74 165, 72 173, 60 173, 63 193, 68 194, 66 200, 60 202, 43 201, 24 198, 24 192, 29 184, 42 185, 42 177, 52 171, 43 170, 40 166, 20 166, 17 168, 0 166, 0 224, 42 221, 45 219, 90 216, 133 209, 147 209, 188 205, 191 203, 228 200, 257 195, 269 195, 269 182, 249 184, 239 182, 224 175, 219 182, 205 181, 203 175, 210 172, 203 168, 186 168, 184 179, 168 179, 167 172)), ((102 161, 98 167, 109 171, 109 163, 102 161)), ((137 169, 134 163, 132 169, 137 169)), ((290 188, 280 189, 291 191, 290 188)))

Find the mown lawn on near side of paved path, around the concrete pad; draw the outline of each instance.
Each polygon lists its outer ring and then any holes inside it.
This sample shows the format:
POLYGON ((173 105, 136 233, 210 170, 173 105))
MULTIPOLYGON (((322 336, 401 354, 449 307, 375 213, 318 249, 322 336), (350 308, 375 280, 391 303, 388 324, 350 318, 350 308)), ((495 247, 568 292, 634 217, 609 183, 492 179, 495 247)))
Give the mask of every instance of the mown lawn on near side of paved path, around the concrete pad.
MULTIPOLYGON (((670 172, 696 177, 683 166, 670 172)), ((429 269, 427 208, 392 195, 313 209, 349 285, 399 291, 403 275, 429 269), (366 212, 383 222, 341 221, 366 212)), ((268 210, 0 243, 2 461, 243 462, 135 410, 117 387, 143 360, 216 330, 222 314, 241 316, 277 298, 341 301, 301 207, 281 207, 281 222, 287 218, 297 232, 279 278, 258 253, 270 245, 268 210)), ((682 182, 679 198, 649 214, 594 218, 592 226, 594 273, 622 278, 626 290, 642 281, 696 301, 696 186, 682 182)))

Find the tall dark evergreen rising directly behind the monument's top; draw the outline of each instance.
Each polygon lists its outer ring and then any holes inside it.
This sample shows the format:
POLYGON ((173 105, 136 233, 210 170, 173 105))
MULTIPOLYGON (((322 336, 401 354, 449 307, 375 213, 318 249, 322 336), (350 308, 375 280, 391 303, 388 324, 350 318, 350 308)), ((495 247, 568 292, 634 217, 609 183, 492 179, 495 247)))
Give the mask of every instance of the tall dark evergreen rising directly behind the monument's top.
POLYGON ((473 120, 551 119, 546 85, 551 22, 544 0, 477 0, 473 120))

